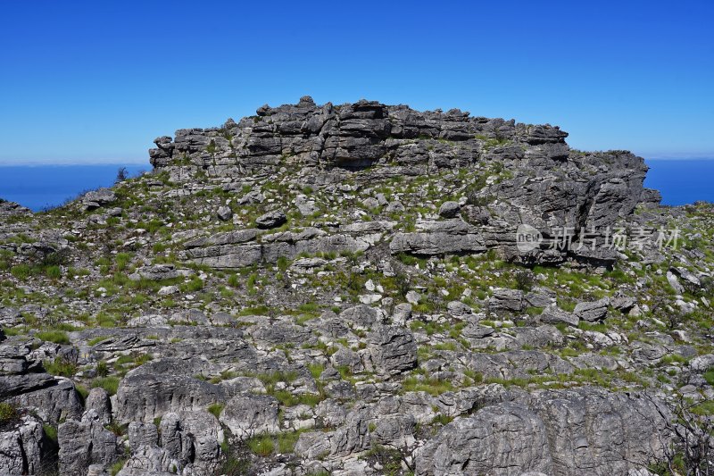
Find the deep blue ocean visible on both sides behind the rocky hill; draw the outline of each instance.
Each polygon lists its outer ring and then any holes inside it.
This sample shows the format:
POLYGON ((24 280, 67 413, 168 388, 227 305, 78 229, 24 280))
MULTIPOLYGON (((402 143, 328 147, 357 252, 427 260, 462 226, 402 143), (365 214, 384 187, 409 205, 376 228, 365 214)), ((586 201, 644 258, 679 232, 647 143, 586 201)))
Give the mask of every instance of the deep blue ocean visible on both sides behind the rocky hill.
MULTIPOLYGON (((714 202, 714 159, 652 160, 644 186, 662 194, 663 205, 714 202)), ((33 211, 62 205, 83 191, 109 187, 121 164, 0 165, 0 198, 33 211)), ((125 165, 130 176, 151 170, 151 165, 125 165)))

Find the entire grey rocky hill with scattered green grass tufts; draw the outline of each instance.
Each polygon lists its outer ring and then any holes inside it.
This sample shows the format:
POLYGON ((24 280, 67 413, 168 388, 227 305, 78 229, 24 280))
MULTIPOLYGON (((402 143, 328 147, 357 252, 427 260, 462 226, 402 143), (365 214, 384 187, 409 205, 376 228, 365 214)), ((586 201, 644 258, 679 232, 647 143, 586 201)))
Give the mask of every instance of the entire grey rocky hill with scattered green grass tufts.
POLYGON ((306 96, 0 202, 0 473, 702 470, 712 205, 565 138, 306 96))

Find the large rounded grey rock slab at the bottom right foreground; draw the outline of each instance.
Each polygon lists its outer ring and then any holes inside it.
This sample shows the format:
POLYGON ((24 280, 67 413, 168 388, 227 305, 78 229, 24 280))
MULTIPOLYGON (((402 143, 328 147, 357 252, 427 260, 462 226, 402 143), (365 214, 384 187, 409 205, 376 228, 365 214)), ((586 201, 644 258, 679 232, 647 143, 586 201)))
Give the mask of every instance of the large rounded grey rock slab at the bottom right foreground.
POLYGON ((666 449, 666 421, 656 405, 583 388, 486 406, 429 441, 417 473, 626 474, 666 449))

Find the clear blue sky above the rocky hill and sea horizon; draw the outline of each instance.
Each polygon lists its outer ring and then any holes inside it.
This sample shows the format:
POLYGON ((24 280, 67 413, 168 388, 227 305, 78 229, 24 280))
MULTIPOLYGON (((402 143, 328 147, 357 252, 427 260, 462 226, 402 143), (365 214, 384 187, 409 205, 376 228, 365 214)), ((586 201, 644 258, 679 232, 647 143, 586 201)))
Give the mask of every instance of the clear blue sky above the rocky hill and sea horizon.
POLYGON ((361 98, 714 157, 714 2, 3 2, 0 163, 145 163, 262 104, 361 98))

